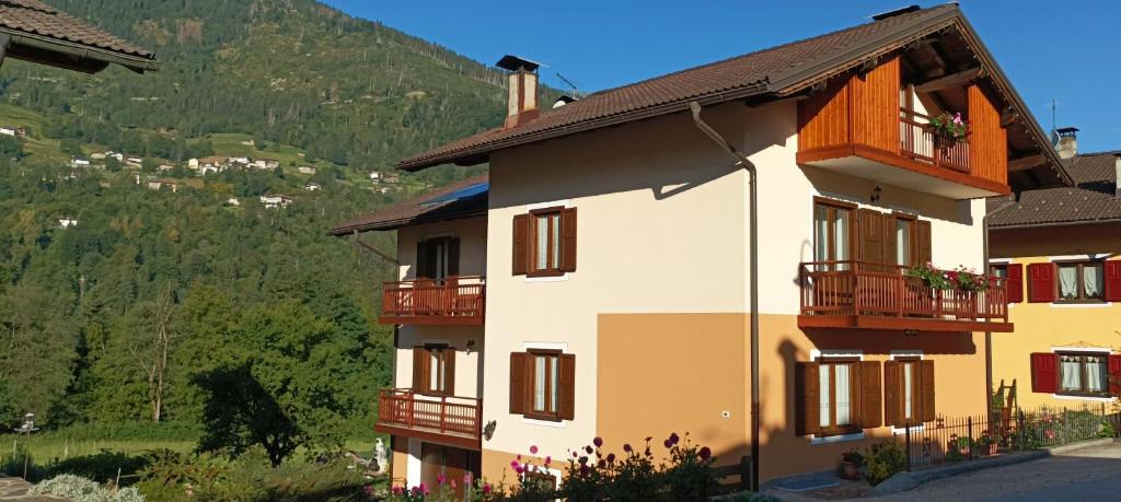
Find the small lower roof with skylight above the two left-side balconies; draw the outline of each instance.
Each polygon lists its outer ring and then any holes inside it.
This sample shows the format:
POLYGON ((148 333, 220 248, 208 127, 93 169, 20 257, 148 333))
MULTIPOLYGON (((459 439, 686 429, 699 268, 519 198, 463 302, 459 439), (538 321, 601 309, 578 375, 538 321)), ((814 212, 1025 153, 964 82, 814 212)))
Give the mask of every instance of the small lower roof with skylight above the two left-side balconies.
POLYGON ((371 230, 396 230, 401 226, 430 223, 461 217, 487 214, 488 193, 456 201, 428 203, 434 198, 453 192, 489 182, 489 175, 482 174, 453 183, 443 188, 426 193, 419 197, 382 208, 373 214, 351 220, 327 231, 328 235, 346 235, 352 232, 371 230))

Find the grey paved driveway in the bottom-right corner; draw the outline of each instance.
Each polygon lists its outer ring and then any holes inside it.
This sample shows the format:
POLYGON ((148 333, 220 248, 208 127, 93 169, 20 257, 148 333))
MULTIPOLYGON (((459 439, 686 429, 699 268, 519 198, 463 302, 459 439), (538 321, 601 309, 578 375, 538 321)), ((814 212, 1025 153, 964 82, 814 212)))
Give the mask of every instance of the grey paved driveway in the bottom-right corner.
POLYGON ((1121 500, 1121 443, 935 480, 876 500, 1091 502, 1121 500))

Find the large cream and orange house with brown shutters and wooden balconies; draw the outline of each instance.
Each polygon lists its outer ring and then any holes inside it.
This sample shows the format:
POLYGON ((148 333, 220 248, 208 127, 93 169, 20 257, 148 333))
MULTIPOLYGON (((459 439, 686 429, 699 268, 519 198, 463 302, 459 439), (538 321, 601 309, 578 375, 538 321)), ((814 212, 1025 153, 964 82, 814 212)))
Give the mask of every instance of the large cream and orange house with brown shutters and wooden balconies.
POLYGON ((397 231, 395 484, 685 431, 758 484, 985 412, 1003 285, 908 270, 982 270, 985 197, 1072 182, 956 4, 548 110, 499 66, 501 127, 398 164, 487 175, 331 230, 397 231), (958 112, 969 141, 932 124, 958 112))

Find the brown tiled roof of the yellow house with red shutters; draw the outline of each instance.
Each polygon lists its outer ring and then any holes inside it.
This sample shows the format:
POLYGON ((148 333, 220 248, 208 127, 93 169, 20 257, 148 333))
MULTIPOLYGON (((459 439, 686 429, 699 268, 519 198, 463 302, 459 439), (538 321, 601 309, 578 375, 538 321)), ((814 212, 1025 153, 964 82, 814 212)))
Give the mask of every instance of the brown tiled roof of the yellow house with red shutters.
POLYGON ((1117 190, 1117 158, 1121 151, 1085 154, 1066 161, 1066 170, 1077 182, 1074 188, 1047 188, 1020 194, 1019 203, 1007 210, 1004 198, 990 199, 995 211, 993 229, 1054 225, 1121 220, 1121 197, 1117 190))

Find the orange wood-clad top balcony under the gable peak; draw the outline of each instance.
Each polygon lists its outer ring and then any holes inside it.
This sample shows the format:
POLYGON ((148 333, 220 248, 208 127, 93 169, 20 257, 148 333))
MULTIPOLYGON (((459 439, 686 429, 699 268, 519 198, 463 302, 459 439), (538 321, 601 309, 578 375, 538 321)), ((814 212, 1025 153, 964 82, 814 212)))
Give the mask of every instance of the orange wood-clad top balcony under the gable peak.
POLYGON ((898 57, 836 80, 798 102, 798 164, 954 199, 1007 195, 1008 137, 1001 113, 975 83, 954 91, 967 141, 944 141, 929 118, 901 103, 898 57))

